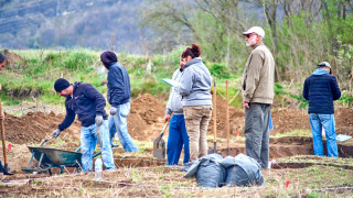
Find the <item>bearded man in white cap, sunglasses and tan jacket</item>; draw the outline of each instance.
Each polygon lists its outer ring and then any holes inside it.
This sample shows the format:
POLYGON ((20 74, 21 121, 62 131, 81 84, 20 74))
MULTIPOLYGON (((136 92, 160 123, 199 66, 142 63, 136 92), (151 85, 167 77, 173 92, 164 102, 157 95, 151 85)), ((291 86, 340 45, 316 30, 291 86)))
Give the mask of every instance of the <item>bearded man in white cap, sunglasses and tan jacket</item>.
POLYGON ((253 26, 243 32, 246 45, 253 51, 243 73, 243 107, 245 108, 246 155, 255 158, 263 168, 268 168, 269 118, 274 101, 275 61, 265 46, 265 31, 253 26))

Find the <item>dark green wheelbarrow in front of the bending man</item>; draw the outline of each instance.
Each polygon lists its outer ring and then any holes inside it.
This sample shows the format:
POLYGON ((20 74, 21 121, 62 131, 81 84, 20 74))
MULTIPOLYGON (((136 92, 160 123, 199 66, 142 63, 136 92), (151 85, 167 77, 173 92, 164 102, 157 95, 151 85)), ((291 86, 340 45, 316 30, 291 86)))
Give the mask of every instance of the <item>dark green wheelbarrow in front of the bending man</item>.
MULTIPOLYGON (((32 157, 28 168, 22 168, 24 172, 33 173, 46 173, 52 176, 52 168, 60 168, 60 174, 64 173, 64 167, 76 167, 77 172, 81 172, 81 157, 78 153, 81 147, 76 148, 75 152, 51 148, 51 147, 35 147, 29 146, 32 153, 32 157), (38 161, 38 164, 33 163, 33 158, 38 161), (33 165, 32 165, 33 163, 33 165)), ((93 155, 96 157, 100 155, 101 151, 93 155)))

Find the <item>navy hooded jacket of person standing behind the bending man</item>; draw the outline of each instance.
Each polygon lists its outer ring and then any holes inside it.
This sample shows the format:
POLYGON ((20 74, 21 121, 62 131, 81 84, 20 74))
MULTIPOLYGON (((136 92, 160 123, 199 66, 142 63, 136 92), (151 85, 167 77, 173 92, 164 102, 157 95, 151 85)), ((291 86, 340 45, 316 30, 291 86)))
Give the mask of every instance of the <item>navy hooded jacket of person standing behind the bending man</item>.
POLYGON ((109 67, 108 72, 108 102, 113 107, 118 107, 119 105, 126 103, 130 101, 130 78, 126 68, 118 64, 113 63, 109 67))

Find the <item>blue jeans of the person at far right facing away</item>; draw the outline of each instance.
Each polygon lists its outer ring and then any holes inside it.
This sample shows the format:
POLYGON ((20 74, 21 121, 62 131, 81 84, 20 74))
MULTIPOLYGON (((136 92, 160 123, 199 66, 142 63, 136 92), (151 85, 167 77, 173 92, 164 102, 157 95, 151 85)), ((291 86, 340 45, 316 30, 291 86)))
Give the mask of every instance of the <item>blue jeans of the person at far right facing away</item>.
POLYGON ((333 114, 310 113, 310 125, 312 130, 313 152, 315 155, 323 156, 322 128, 327 136, 327 147, 329 157, 339 157, 338 143, 335 140, 334 117, 333 114))

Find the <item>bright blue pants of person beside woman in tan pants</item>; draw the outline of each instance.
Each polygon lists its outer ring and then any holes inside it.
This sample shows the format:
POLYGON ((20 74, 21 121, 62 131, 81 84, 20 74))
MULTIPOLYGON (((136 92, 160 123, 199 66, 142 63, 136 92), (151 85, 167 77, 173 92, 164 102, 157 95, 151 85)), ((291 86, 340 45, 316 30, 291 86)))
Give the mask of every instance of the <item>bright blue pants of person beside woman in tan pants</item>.
POLYGON ((174 114, 169 123, 169 136, 167 143, 168 165, 178 165, 181 150, 184 145, 184 162, 189 163, 189 135, 183 114, 174 114))

